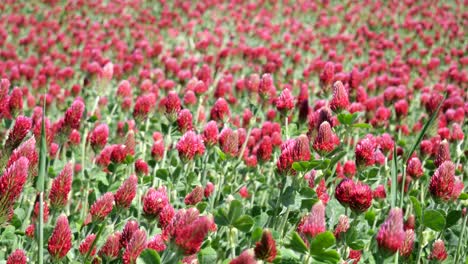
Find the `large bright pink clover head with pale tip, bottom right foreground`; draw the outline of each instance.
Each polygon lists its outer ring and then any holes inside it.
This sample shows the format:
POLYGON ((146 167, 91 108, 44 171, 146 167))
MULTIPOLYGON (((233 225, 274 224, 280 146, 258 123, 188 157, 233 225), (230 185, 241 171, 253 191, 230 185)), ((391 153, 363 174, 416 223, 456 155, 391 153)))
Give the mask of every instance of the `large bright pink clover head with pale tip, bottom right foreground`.
POLYGON ((392 208, 385 222, 377 233, 377 244, 381 250, 394 254, 403 245, 405 231, 403 230, 403 211, 392 208))

